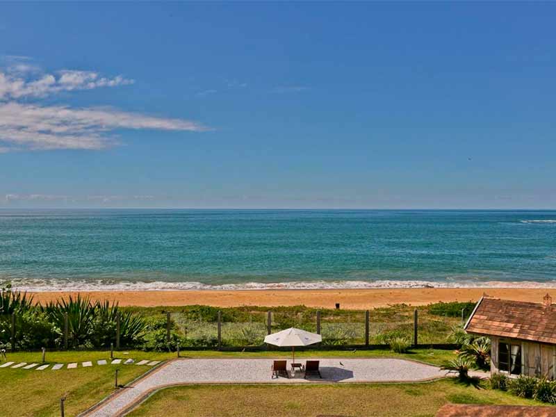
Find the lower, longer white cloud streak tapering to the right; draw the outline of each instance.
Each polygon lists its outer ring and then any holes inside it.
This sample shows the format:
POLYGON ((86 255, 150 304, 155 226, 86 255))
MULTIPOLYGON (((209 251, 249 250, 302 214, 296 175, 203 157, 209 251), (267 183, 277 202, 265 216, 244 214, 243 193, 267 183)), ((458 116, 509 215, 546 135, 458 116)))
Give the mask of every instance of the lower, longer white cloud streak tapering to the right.
POLYGON ((126 113, 111 108, 0 104, 0 142, 11 149, 104 149, 116 129, 205 131, 195 122, 126 113))

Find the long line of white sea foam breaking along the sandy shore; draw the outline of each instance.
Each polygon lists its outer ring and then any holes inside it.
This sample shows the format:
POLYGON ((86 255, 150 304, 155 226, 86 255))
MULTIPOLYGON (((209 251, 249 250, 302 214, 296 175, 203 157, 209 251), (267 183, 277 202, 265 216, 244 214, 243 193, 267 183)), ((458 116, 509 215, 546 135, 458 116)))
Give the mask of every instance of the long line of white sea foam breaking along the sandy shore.
MULTIPOLYGON (((70 280, 24 280, 10 281, 20 291, 195 291, 195 290, 319 290, 319 289, 372 289, 372 288, 556 288, 553 281, 476 281, 472 279, 452 281, 381 280, 381 281, 292 281, 292 282, 246 282, 242 284, 203 284, 201 282, 167 281, 70 281, 70 280)), ((1 284, 1 283, 0 283, 1 284)))

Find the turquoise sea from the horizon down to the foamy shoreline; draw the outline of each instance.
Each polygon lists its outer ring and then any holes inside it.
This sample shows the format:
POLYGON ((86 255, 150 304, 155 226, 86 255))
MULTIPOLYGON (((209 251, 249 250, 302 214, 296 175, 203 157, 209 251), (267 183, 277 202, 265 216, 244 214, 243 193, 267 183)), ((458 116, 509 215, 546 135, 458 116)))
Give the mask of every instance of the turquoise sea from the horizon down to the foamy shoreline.
POLYGON ((1 210, 7 280, 31 290, 556 286, 556 211, 1 210))

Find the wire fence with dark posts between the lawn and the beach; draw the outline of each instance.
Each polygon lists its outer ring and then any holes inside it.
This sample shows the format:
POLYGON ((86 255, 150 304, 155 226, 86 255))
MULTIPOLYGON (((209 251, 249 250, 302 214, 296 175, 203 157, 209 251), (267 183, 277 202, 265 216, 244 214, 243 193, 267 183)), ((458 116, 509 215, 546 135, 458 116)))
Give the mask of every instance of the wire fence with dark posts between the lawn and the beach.
POLYGON ((32 350, 40 347, 59 349, 140 348, 144 350, 181 349, 261 349, 267 334, 290 327, 322 335, 316 347, 377 347, 403 340, 409 345, 445 345, 450 332, 462 319, 431 314, 426 308, 374 309, 372 311, 323 310, 300 308, 224 309, 211 307, 183 309, 141 316, 124 312, 111 321, 90 319, 80 329, 72 316, 62 316, 56 324, 40 316, 0 315, 0 347, 32 350), (133 333, 133 320, 146 323, 133 333), (95 325, 96 322, 101 325, 95 325), (106 325, 108 323, 108 325, 106 325), (130 336, 130 334, 132 336, 130 336), (135 337, 135 336, 137 337, 135 337))

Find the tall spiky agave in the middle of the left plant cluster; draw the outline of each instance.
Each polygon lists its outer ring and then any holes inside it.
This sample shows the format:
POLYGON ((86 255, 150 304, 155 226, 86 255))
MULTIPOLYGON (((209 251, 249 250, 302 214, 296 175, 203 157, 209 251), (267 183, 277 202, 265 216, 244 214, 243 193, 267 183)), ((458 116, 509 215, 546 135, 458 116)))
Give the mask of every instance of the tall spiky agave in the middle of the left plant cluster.
POLYGON ((50 302, 43 308, 58 329, 65 329, 65 315, 67 314, 67 329, 74 347, 82 345, 87 340, 95 312, 88 297, 68 297, 67 300, 50 302))

